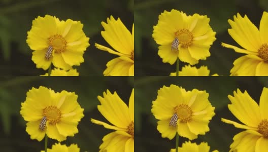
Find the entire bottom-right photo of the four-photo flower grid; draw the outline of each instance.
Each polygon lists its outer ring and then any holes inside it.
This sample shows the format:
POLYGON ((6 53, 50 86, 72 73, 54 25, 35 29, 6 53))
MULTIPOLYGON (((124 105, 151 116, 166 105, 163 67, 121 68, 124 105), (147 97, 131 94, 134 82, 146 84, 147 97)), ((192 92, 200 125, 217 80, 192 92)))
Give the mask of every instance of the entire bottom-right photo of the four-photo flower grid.
POLYGON ((265 151, 267 87, 266 77, 136 77, 135 150, 175 151, 178 132, 179 151, 265 151))

